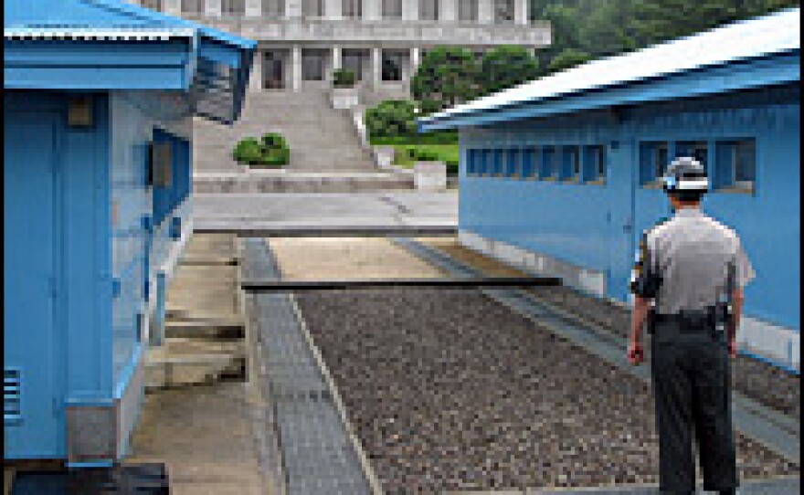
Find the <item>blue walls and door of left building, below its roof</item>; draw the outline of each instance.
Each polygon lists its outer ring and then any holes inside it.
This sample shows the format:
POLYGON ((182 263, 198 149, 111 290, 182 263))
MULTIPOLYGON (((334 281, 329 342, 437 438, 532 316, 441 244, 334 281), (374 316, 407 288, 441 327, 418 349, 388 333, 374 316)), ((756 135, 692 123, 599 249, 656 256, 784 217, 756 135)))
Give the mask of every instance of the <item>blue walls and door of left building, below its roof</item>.
MULTIPOLYGON (((190 214, 188 115, 165 113, 155 92, 96 93, 92 125, 70 128, 73 96, 4 95, 4 286, 15 308, 4 319, 5 374, 21 377, 22 399, 18 415, 5 415, 6 458, 66 457, 65 407, 111 406, 126 393, 141 362, 146 296, 156 299, 154 267, 173 241, 165 226, 190 214), (157 128, 176 148, 164 191, 146 184, 157 128)), ((122 418, 124 437, 135 418, 122 418)))

